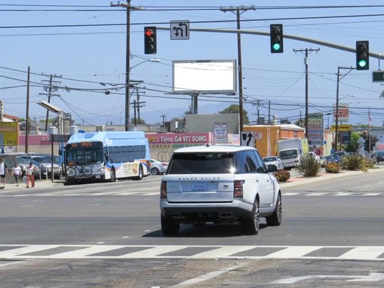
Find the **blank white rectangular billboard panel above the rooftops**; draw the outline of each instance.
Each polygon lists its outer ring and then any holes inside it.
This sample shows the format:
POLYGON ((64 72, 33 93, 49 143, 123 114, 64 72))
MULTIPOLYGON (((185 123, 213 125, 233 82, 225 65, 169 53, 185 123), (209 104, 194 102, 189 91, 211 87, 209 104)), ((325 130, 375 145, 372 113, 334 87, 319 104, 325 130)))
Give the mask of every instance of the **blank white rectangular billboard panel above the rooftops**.
POLYGON ((173 93, 236 92, 236 60, 172 61, 173 93))

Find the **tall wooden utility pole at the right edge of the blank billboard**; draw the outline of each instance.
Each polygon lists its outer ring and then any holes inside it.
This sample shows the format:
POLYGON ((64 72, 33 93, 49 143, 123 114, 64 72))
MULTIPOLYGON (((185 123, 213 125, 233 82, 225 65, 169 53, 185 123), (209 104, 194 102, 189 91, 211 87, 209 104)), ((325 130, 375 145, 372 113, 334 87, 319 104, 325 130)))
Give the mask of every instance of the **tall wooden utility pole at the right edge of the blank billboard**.
MULTIPOLYGON (((230 11, 236 14, 237 30, 240 30, 240 15, 247 10, 255 10, 253 5, 249 7, 237 6, 237 7, 221 7, 221 11, 230 11)), ((237 33, 237 70, 238 70, 238 110, 240 116, 240 131, 243 129, 243 96, 242 96, 242 70, 241 70, 241 33, 237 33)))

